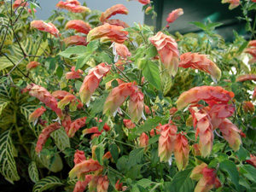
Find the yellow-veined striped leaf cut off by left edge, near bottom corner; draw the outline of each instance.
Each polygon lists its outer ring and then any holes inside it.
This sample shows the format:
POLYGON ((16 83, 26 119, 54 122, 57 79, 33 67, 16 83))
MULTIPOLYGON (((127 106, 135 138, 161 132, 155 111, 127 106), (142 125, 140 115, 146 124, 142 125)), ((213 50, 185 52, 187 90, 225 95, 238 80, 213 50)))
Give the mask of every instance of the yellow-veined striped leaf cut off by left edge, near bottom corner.
POLYGON ((0 136, 0 172, 10 183, 20 180, 17 172, 15 158, 13 154, 13 143, 10 131, 4 131, 0 136))

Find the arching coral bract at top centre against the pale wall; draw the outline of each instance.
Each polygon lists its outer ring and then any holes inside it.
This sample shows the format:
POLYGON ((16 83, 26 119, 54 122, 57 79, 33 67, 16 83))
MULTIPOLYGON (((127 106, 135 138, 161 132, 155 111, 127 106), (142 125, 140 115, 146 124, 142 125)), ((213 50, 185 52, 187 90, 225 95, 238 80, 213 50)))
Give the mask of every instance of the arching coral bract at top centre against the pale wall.
POLYGON ((105 12, 102 13, 100 20, 102 23, 107 20, 109 17, 117 14, 128 15, 129 11, 125 8, 122 4, 113 5, 111 8, 107 9, 105 12))

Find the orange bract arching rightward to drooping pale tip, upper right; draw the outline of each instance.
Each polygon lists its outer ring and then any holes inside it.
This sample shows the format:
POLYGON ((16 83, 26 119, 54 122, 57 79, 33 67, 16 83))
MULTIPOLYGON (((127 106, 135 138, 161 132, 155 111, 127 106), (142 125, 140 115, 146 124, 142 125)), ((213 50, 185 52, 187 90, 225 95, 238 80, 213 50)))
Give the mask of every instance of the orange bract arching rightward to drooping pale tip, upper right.
POLYGON ((195 68, 206 72, 212 76, 214 81, 219 80, 221 71, 217 65, 207 58, 207 55, 200 55, 198 53, 184 53, 180 55, 178 67, 195 68))

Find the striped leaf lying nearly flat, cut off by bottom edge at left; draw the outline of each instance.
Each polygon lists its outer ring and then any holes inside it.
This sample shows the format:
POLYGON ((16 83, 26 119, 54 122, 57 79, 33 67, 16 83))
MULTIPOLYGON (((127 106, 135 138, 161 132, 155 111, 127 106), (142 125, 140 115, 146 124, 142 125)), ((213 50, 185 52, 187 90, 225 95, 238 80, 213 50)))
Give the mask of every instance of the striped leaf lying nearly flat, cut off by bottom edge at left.
POLYGON ((34 187, 32 192, 41 192, 47 189, 51 189, 54 188, 56 186, 60 186, 63 185, 63 183, 61 183, 61 179, 55 176, 48 176, 48 177, 44 177, 42 178, 40 181, 38 181, 34 187))

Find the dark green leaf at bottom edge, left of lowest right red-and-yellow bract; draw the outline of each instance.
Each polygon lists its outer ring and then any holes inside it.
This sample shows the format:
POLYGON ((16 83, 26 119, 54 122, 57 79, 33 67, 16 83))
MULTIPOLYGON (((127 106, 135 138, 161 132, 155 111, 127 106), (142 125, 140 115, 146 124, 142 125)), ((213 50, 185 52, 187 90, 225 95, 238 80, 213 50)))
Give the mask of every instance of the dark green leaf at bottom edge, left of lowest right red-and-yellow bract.
POLYGON ((194 191, 195 182, 190 178, 190 174, 193 168, 187 168, 182 172, 177 172, 172 179, 172 185, 175 188, 176 192, 189 192, 194 191))

